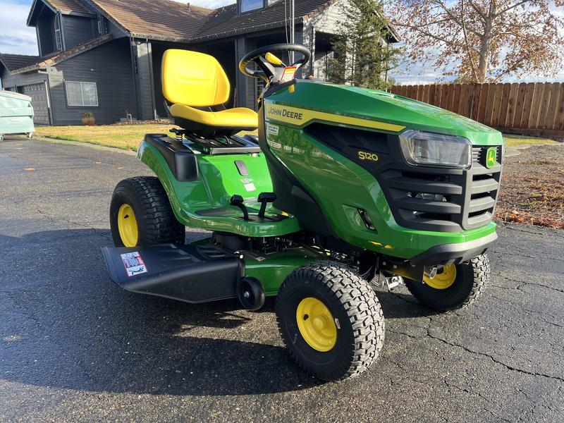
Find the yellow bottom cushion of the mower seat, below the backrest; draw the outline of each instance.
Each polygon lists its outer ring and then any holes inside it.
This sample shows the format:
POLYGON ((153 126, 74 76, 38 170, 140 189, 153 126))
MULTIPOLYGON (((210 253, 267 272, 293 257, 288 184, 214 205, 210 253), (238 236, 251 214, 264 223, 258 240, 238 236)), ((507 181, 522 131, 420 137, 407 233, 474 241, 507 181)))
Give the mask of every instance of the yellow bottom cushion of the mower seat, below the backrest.
POLYGON ((171 115, 188 121, 217 128, 256 129, 259 126, 257 112, 246 107, 221 111, 203 111, 185 104, 173 104, 171 115))

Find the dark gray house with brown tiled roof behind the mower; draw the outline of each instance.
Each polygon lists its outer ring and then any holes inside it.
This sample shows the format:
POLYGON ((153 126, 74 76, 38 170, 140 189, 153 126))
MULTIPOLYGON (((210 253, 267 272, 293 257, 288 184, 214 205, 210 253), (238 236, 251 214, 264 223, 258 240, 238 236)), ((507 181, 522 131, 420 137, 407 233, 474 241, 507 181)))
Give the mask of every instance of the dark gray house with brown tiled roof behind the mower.
MULTIPOLYGON (((342 1, 295 0, 295 42, 312 50, 305 75, 324 77, 342 1)), ((85 111, 97 123, 128 114, 166 118, 162 56, 192 49, 225 69, 233 89, 227 106, 256 109, 262 82, 238 72, 238 61, 286 42, 288 16, 287 0, 237 0, 217 9, 171 0, 34 0, 27 25, 37 32, 39 56, 0 54, 1 83, 32 97, 38 124, 78 124, 85 111)), ((397 40, 390 28, 387 42, 397 40)))

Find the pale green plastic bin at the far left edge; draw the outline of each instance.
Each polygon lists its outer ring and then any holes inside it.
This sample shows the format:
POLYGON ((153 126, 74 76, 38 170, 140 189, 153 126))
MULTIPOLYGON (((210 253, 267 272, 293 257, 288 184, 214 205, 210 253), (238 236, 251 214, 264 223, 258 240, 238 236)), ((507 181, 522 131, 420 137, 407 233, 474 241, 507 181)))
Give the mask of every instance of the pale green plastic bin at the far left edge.
POLYGON ((31 97, 18 92, 0 91, 0 141, 4 135, 33 135, 31 97))

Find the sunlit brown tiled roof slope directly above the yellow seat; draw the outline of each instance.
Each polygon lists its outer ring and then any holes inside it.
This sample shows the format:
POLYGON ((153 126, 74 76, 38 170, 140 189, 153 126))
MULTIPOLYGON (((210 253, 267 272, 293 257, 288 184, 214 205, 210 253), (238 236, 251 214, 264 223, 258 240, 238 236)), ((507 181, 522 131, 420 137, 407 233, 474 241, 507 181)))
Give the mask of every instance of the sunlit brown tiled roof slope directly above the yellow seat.
POLYGON ((213 9, 171 0, 90 0, 134 37, 188 42, 213 9))

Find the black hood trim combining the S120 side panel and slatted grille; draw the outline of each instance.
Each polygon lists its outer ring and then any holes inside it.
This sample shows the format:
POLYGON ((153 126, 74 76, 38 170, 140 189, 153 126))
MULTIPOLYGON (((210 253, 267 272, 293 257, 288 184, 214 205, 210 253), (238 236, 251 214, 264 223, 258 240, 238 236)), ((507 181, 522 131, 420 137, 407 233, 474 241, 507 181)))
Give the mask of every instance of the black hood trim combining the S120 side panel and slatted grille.
MULTIPOLYGON (((313 123, 307 135, 366 169, 379 182, 398 225, 420 231, 458 232, 477 228, 494 216, 501 177, 502 146, 497 162, 486 168, 490 147, 472 148, 468 170, 411 166, 403 159, 397 135, 313 123), (376 154, 377 161, 360 159, 376 154)), ((378 228, 376 228, 377 230, 378 228)))

